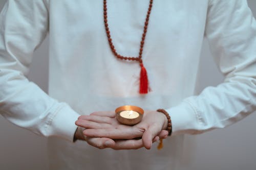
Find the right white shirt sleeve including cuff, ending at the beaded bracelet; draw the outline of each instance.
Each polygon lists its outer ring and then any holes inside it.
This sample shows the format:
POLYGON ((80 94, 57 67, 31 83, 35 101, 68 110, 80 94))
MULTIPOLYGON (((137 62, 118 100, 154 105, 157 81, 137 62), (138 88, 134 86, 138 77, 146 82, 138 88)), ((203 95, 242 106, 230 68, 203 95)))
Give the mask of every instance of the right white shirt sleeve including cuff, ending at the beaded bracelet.
POLYGON ((209 1, 205 37, 225 80, 167 109, 174 135, 224 128, 256 110, 256 21, 247 1, 209 1))

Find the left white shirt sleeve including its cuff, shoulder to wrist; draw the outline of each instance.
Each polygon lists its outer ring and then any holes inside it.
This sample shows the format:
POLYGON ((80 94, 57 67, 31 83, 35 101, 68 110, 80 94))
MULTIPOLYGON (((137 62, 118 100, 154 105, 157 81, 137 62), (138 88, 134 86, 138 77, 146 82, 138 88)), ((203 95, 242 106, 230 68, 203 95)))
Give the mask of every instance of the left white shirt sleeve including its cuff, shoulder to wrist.
POLYGON ((49 27, 47 2, 9 0, 0 14, 0 114, 44 136, 73 141, 79 116, 25 76, 49 27))

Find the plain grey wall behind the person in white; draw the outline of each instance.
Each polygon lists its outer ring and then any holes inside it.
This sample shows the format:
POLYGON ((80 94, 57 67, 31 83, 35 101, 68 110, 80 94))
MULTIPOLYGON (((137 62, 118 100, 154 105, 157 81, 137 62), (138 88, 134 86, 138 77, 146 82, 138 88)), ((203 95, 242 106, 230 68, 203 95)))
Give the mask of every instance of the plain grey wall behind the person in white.
MULTIPOLYGON (((6 0, 0 0, 0 9, 5 2, 6 0)), ((247 2, 256 17, 256 1, 247 0, 247 2)), ((35 52, 28 76, 45 91, 48 87, 47 51, 48 39, 35 52)), ((201 58, 198 92, 206 86, 215 86, 223 80, 216 65, 213 64, 206 42, 204 42, 201 58)), ((225 129, 197 136, 186 136, 187 140, 193 141, 185 147, 185 153, 193 150, 191 154, 186 154, 187 158, 192 157, 191 170, 255 170, 255 122, 254 112, 241 122, 225 129)), ((47 169, 46 138, 18 128, 2 116, 0 116, 0 136, 0 169, 47 169)))

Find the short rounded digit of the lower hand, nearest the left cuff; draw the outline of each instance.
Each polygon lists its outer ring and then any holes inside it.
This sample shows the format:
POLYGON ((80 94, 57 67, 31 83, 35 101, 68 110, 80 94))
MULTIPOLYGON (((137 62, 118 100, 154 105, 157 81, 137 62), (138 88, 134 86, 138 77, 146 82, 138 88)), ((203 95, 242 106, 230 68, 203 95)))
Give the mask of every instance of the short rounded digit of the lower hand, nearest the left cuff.
POLYGON ((114 148, 115 147, 115 141, 110 138, 90 138, 86 137, 86 141, 88 144, 92 145, 95 148, 98 149, 105 149, 105 148, 114 148))

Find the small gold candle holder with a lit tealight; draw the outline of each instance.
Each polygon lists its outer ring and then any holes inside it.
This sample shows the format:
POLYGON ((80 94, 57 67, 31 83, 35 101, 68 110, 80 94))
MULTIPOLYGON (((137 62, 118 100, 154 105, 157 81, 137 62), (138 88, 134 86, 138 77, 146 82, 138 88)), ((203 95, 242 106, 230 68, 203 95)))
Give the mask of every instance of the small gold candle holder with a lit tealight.
POLYGON ((137 106, 125 105, 116 108, 116 119, 124 125, 138 124, 143 117, 144 110, 137 106))

